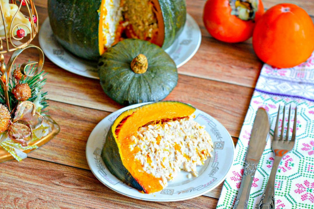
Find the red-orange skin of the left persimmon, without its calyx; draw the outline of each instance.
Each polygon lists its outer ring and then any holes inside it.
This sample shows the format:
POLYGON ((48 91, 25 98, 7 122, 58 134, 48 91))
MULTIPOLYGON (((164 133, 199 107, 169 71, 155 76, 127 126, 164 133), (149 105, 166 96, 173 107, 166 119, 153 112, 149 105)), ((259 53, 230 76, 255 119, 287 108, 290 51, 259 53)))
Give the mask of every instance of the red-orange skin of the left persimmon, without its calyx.
POLYGON ((232 12, 229 0, 208 0, 206 2, 203 21, 212 37, 227 43, 247 40, 252 36, 255 22, 261 18, 264 7, 262 0, 259 0, 258 9, 254 15, 255 21, 241 20, 232 12))

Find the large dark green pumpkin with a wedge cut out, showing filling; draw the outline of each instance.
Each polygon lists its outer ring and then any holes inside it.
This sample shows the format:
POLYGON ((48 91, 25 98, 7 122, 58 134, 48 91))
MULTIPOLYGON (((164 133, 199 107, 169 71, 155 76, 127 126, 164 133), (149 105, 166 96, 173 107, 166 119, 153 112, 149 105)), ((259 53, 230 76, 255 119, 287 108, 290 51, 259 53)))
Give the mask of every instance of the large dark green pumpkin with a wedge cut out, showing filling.
POLYGON ((98 59, 122 37, 168 48, 182 32, 185 0, 48 0, 52 31, 70 52, 98 59))

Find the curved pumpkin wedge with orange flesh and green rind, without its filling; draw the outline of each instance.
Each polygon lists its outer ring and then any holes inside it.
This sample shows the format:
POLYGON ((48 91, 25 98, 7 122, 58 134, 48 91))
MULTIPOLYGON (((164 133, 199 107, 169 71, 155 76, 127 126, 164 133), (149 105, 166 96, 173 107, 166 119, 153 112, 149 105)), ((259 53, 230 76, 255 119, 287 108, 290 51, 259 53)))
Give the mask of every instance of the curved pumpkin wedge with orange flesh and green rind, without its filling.
POLYGON ((130 150, 138 128, 162 119, 174 119, 191 115, 195 108, 180 102, 157 102, 146 104, 123 112, 111 125, 102 151, 102 158, 109 169, 122 182, 144 193, 160 191, 161 179, 143 170, 142 164, 134 158, 138 150, 130 150))

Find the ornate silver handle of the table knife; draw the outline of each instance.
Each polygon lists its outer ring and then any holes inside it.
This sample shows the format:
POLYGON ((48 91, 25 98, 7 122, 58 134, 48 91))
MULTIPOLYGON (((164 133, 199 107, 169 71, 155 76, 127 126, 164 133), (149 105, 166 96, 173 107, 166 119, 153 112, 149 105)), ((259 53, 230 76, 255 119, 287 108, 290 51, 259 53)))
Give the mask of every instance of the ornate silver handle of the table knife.
POLYGON ((258 164, 259 162, 245 161, 242 182, 233 209, 247 209, 251 185, 258 164))

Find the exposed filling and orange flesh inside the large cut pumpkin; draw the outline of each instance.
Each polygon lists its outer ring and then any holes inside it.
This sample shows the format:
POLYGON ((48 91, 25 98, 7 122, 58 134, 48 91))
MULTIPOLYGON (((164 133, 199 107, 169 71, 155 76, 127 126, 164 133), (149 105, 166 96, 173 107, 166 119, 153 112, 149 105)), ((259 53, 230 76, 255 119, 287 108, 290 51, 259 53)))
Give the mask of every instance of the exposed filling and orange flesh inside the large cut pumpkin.
POLYGON ((124 38, 157 42, 157 9, 152 0, 102 0, 99 12, 101 53, 124 38))

